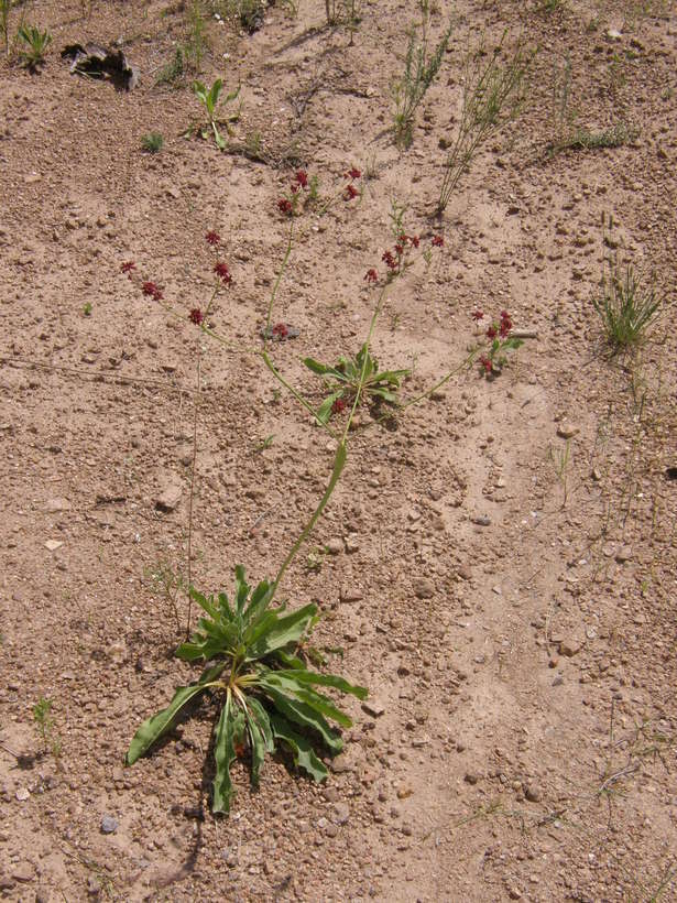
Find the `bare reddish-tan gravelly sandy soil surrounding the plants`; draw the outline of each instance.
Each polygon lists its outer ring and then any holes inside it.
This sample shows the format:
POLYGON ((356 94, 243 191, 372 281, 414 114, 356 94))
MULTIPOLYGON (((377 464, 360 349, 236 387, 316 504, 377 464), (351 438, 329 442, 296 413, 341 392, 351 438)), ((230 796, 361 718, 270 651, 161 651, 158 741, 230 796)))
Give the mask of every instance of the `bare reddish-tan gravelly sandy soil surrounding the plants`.
MULTIPOLYGON (((430 40, 449 17, 454 30, 401 152, 391 85, 417 9, 364 3, 351 42, 320 3, 271 7, 251 35, 205 4, 203 78, 241 84, 221 153, 186 137, 201 121, 193 76, 155 84, 189 4, 26 4, 54 40, 40 74, 0 63, 4 899, 677 899, 677 9, 547 6, 435 7, 430 40), (505 29, 505 58, 520 35, 539 47, 525 108, 437 221, 463 59, 505 29), (92 40, 119 40, 137 88, 69 74, 62 48, 92 40), (547 151, 567 129, 618 123, 621 146, 547 151), (312 403, 301 358, 363 341, 393 199, 422 242, 445 237, 429 269, 393 283, 373 338, 382 363, 413 369, 406 396, 459 366, 502 308, 535 337, 500 376, 460 370, 391 428, 360 412, 282 596, 320 606, 315 642, 370 688, 369 708, 348 705, 325 784, 273 760, 254 793, 238 763, 231 815, 215 819, 212 705, 133 768, 123 758, 196 674, 173 657, 182 631, 153 578, 187 576, 196 405, 196 586, 230 588, 238 563, 273 576, 330 472, 330 437, 247 352, 299 166, 338 195, 297 218, 275 300, 274 319, 299 330, 275 361, 312 403), (351 166, 362 196, 348 202, 351 166), (233 284, 209 323, 236 352, 188 320, 210 291, 210 229, 233 284), (591 303, 609 244, 665 295, 647 341, 614 358, 591 303)), ((183 623, 184 595, 176 606, 183 623)))

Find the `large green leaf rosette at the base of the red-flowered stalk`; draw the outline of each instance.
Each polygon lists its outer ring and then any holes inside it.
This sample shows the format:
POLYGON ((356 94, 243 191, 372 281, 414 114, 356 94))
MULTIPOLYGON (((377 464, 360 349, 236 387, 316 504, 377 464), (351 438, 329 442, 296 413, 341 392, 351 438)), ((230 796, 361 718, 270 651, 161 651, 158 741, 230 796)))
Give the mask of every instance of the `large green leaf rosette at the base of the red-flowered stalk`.
POLYGON ((284 606, 271 608, 276 581, 262 580, 252 591, 244 569, 236 567, 236 590, 231 600, 225 592, 206 597, 190 589, 193 599, 206 612, 189 642, 176 655, 187 662, 204 662, 198 681, 179 687, 167 708, 141 725, 129 748, 127 763, 166 735, 196 697, 209 693, 218 699, 214 755, 216 813, 228 813, 233 795, 230 770, 244 748, 249 750, 251 782, 258 786, 265 755, 282 743, 295 764, 315 781, 327 777, 327 768, 317 749, 330 754, 342 749, 340 736, 330 721, 350 727, 352 721, 316 687, 331 687, 363 699, 364 687, 354 686, 334 674, 307 667, 297 654, 317 607, 307 605, 285 613, 284 606))

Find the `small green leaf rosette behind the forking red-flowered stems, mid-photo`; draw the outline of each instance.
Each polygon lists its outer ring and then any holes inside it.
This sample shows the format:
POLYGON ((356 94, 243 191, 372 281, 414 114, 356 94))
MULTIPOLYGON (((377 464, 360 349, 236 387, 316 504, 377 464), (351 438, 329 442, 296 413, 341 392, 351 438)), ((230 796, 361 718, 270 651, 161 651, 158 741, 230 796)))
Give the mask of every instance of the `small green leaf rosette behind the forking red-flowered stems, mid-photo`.
POLYGON ((304 363, 321 377, 330 390, 317 409, 320 423, 327 423, 332 414, 354 404, 358 395, 360 401, 396 404, 400 384, 411 373, 411 370, 379 370, 379 361, 371 356, 367 345, 354 357, 339 358, 335 367, 315 358, 304 358, 304 363))

